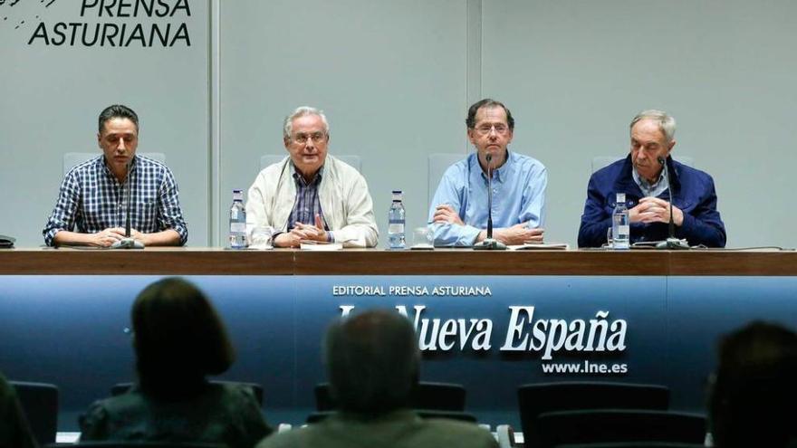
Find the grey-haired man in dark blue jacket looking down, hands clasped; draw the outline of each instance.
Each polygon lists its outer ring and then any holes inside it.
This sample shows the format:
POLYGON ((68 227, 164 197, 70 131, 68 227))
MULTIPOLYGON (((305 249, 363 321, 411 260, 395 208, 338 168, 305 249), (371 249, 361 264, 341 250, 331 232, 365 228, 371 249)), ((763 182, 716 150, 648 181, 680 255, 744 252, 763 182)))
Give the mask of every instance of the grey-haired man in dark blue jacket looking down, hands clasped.
POLYGON ((676 120, 667 112, 645 110, 631 121, 628 157, 596 171, 587 186, 579 247, 606 243, 617 193, 625 193, 631 243, 667 239, 670 207, 664 167, 672 181, 672 217, 677 238, 690 245, 725 247, 725 224, 716 210, 714 180, 703 171, 669 157, 676 145, 676 120))

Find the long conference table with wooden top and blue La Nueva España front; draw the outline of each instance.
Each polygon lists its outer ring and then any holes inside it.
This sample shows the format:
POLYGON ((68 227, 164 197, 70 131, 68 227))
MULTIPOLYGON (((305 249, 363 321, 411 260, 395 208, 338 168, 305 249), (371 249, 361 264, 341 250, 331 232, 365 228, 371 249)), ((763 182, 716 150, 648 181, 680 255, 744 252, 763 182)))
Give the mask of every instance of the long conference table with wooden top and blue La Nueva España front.
POLYGON ((467 410, 514 424, 517 386, 653 383, 702 412, 718 338, 754 319, 797 327, 793 251, 475 252, 147 248, 0 251, 0 371, 59 386, 59 427, 131 381, 130 305, 184 276, 226 321, 222 378, 264 386, 271 423, 302 423, 325 380, 332 319, 373 307, 411 319, 421 379, 460 383, 467 410))

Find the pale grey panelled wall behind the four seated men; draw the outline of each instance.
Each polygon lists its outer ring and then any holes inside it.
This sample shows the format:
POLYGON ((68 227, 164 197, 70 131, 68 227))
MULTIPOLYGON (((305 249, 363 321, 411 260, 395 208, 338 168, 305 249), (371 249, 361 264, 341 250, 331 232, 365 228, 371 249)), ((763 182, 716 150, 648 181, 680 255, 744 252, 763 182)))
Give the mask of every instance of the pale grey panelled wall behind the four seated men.
POLYGON ((141 151, 166 153, 202 246, 224 241, 230 190, 283 153, 283 116, 304 104, 327 112, 332 154, 362 158, 380 228, 394 188, 422 224, 427 154, 465 155, 466 108, 485 96, 513 110, 512 148, 549 169, 550 240, 575 243, 591 157, 623 156, 629 120, 660 108, 678 120, 674 155, 715 177, 729 246, 794 245, 791 0, 213 0, 212 16, 191 0, 190 48, 27 44, 40 19, 86 21, 76 4, 0 5, 0 234, 19 246, 42 242, 61 155, 99 151, 112 102, 139 112, 141 151))

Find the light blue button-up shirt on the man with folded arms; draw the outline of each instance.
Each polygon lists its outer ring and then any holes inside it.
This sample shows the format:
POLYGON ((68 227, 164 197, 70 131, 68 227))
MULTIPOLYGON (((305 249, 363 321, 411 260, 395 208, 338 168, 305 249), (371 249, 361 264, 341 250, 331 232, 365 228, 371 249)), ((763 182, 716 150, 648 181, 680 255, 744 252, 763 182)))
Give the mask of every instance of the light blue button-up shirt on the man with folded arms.
MULTIPOLYGON (((540 161, 507 151, 493 170, 493 228, 528 222, 543 225, 548 172, 540 161)), ((448 167, 429 208, 429 226, 438 246, 471 246, 487 228, 487 176, 473 153, 448 167), (466 225, 431 224, 437 205, 451 205, 466 225)))

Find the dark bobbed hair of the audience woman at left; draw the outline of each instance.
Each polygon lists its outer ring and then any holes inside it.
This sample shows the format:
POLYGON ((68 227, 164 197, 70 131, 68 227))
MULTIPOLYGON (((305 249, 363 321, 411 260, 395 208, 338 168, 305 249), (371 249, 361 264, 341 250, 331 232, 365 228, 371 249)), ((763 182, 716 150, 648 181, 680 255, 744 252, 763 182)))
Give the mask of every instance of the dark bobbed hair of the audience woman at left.
POLYGON ((130 319, 145 392, 178 394, 175 389, 224 373, 235 361, 224 323, 188 281, 171 277, 150 284, 133 303, 130 319))

